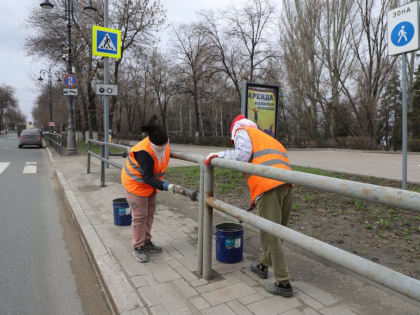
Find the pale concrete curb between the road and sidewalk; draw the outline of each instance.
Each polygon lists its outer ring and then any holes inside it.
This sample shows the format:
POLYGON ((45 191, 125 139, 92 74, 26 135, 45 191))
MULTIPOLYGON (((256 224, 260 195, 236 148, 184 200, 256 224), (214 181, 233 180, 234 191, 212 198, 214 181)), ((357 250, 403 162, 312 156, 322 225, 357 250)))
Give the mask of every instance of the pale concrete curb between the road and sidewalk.
POLYGON ((46 150, 111 312, 123 315, 148 314, 144 303, 86 215, 85 210, 90 210, 89 205, 84 198, 76 196, 64 175, 55 167, 56 162, 50 149, 47 147, 46 150))

